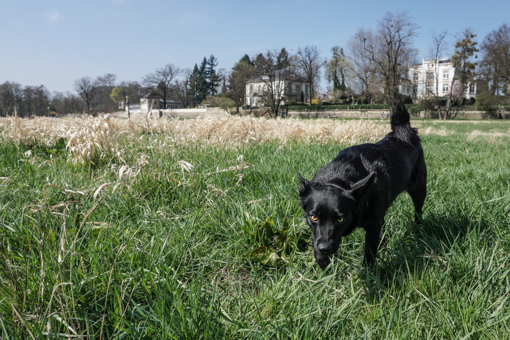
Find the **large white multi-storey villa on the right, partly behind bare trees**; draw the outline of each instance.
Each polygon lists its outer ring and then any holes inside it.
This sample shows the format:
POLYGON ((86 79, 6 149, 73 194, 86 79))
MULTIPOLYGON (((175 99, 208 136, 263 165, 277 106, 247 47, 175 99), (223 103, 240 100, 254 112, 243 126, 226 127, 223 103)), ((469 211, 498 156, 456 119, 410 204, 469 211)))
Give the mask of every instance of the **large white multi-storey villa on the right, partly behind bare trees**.
MULTIPOLYGON (((415 100, 429 99, 436 94, 446 97, 451 90, 455 68, 448 57, 442 59, 425 60, 419 65, 410 66, 407 78, 411 80, 411 96, 415 100)), ((455 86, 455 85, 453 85, 455 86)), ((466 98, 476 96, 476 82, 472 82, 466 89, 466 98)))

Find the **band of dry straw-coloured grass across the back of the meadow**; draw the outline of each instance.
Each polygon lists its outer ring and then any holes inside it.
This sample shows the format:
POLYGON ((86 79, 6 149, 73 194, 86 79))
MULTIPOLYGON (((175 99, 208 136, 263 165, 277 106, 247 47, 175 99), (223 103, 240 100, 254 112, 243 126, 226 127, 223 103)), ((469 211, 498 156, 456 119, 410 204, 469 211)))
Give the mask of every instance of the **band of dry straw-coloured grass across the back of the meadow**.
MULTIPOLYGON (((420 127, 418 125, 418 127, 420 127)), ((54 145, 64 138, 68 162, 87 163, 93 156, 122 152, 122 141, 165 134, 175 143, 235 146, 271 140, 348 145, 376 142, 390 130, 378 120, 300 120, 205 116, 196 119, 0 118, 0 139, 26 145, 54 145), (148 135, 148 136, 147 136, 148 135)), ((428 127, 422 135, 449 136, 453 131, 428 127)))

